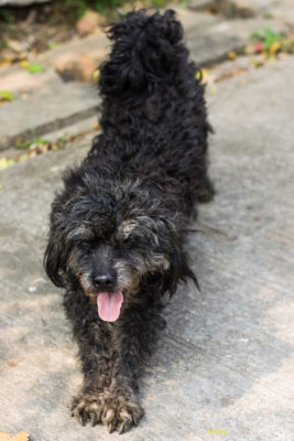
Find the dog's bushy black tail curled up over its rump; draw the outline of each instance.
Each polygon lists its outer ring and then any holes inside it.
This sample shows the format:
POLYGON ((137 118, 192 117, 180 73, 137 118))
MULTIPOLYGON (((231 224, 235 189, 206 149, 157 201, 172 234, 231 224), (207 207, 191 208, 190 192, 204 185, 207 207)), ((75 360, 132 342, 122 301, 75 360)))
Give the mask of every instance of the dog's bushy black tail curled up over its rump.
POLYGON ((183 29, 173 10, 163 15, 130 12, 110 28, 108 36, 113 45, 100 66, 102 96, 145 96, 187 68, 188 51, 181 42, 183 29))

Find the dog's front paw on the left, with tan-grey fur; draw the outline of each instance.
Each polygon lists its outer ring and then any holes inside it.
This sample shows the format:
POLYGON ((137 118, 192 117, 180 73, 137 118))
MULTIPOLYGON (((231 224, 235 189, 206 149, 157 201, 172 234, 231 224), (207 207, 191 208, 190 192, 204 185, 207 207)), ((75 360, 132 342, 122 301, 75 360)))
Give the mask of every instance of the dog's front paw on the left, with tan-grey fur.
POLYGON ((98 395, 78 395, 73 398, 70 406, 72 417, 75 417, 81 426, 87 422, 91 426, 100 422, 102 411, 102 399, 98 395))

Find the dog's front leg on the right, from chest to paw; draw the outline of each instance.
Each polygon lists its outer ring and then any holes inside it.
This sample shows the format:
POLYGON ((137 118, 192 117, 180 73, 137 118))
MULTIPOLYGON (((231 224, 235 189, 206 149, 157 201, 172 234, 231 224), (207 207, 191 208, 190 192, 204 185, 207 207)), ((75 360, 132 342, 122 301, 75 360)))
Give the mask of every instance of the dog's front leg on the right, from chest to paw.
POLYGON ((113 365, 107 390, 102 422, 111 432, 128 431, 143 415, 138 398, 138 376, 155 342, 163 319, 154 311, 129 311, 113 326, 113 365))

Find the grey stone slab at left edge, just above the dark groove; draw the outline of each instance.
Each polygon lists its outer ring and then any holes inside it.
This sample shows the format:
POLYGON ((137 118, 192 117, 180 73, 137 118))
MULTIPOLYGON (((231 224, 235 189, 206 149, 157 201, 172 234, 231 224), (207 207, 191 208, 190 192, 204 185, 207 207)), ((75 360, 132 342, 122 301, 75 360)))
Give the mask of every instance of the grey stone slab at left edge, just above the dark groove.
POLYGON ((0 107, 0 150, 18 138, 32 139, 97 114, 99 98, 95 85, 54 82, 50 90, 32 93, 0 107))

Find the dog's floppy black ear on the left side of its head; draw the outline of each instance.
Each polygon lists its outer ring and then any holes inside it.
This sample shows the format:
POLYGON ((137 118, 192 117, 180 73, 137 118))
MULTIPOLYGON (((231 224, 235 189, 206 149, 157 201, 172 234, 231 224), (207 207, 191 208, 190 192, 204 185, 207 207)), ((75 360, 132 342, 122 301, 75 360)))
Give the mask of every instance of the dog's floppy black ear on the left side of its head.
POLYGON ((44 268, 48 278, 58 288, 65 287, 64 273, 67 259, 67 246, 61 228, 52 223, 48 244, 44 255, 44 268))

